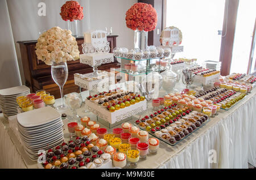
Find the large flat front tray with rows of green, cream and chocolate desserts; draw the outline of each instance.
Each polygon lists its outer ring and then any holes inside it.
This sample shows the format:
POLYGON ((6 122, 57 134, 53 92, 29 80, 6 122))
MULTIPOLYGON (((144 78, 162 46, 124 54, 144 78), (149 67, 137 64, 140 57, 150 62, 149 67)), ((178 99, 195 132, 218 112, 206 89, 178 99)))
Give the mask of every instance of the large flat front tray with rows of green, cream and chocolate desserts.
POLYGON ((135 124, 155 138, 176 145, 209 121, 208 115, 174 103, 138 119, 135 124))

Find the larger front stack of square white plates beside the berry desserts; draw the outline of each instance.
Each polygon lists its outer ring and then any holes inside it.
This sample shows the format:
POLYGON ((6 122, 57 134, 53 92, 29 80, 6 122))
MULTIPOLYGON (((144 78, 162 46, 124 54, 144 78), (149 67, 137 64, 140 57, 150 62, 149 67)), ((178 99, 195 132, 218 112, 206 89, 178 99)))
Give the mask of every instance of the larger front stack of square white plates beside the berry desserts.
POLYGON ((40 149, 47 150, 63 142, 63 122, 54 108, 44 107, 17 115, 20 139, 31 160, 40 149))

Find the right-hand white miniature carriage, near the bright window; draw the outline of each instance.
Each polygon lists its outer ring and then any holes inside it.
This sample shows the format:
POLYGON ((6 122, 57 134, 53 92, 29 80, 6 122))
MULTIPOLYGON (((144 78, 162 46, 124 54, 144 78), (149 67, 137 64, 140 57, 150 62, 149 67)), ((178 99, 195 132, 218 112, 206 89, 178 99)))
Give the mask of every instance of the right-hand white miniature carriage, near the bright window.
POLYGON ((169 46, 172 46, 174 44, 179 45, 182 41, 179 36, 179 29, 178 28, 166 28, 163 31, 163 38, 162 42, 163 45, 168 44, 169 46))

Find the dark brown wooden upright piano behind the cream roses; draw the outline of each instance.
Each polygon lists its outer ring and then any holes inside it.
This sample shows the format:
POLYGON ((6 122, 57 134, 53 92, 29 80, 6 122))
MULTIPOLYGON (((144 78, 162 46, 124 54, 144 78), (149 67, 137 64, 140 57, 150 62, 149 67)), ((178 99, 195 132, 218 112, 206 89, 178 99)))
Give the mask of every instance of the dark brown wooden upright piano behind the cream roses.
MULTIPOLYGON (((110 42, 110 53, 117 45, 118 36, 108 36, 110 42)), ((82 46, 84 37, 76 38, 77 45, 79 46, 80 54, 82 54, 82 46)), ((22 57, 22 66, 25 78, 25 85, 30 88, 31 92, 36 92, 44 89, 54 95, 56 98, 60 97, 60 89, 51 77, 51 66, 46 65, 44 62, 36 58, 35 46, 37 41, 18 41, 20 54, 22 57)), ((93 72, 93 68, 80 63, 80 59, 76 61, 68 61, 68 80, 64 85, 64 95, 71 92, 79 92, 79 87, 74 83, 74 74, 87 74, 93 72)), ((119 68, 120 64, 116 61, 107 63, 98 67, 98 70, 110 71, 110 68, 119 68)))

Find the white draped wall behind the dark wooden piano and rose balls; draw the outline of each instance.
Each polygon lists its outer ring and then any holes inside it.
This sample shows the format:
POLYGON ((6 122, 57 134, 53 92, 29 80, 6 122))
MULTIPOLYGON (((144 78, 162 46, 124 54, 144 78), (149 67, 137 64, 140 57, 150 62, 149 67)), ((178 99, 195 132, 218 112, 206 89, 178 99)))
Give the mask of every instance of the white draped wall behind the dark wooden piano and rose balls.
MULTIPOLYGON (((2 0, 1 0, 2 1, 2 0)), ((84 7, 84 19, 78 24, 79 35, 89 29, 113 27, 113 35, 118 35, 117 46, 133 48, 134 32, 126 27, 125 13, 137 0, 77 0, 84 7)), ((59 26, 67 29, 67 22, 61 19, 60 7, 65 0, 8 0, 11 27, 22 82, 24 76, 19 45, 16 41, 36 40, 39 32, 59 26), (46 16, 38 15, 38 3, 46 3, 46 16)), ((2 7, 2 6, 1 6, 2 7)), ((1 40, 2 41, 2 40, 1 40)), ((2 74, 2 73, 1 73, 2 74)))

